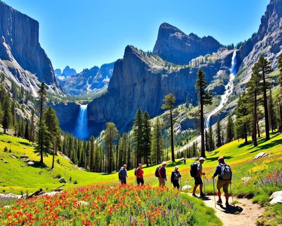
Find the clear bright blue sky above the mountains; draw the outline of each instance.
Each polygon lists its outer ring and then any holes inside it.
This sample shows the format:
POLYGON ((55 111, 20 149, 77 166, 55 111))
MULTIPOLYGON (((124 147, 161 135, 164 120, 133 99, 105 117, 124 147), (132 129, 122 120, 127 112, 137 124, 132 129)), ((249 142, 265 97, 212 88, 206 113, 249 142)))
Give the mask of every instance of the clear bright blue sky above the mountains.
POLYGON ((270 0, 4 0, 39 22, 39 41, 54 69, 76 72, 123 57, 126 45, 153 50, 160 24, 222 44, 259 29, 270 0))

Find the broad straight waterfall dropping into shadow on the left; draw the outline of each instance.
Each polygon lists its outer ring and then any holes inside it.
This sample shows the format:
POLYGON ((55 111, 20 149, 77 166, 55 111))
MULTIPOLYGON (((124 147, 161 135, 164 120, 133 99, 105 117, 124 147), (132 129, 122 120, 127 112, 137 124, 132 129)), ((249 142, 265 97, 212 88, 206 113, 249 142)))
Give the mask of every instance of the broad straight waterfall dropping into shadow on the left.
POLYGON ((87 118, 87 104, 80 105, 79 114, 76 123, 76 137, 87 138, 88 136, 88 118, 87 118))

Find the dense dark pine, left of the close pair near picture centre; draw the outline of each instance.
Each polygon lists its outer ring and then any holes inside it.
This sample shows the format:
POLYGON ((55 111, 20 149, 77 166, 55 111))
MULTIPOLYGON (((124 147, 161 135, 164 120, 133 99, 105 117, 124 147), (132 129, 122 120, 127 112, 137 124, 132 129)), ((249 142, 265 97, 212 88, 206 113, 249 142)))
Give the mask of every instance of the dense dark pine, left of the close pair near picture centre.
POLYGON ((135 121, 133 121, 133 139, 134 139, 134 153, 137 159, 137 166, 141 163, 142 157, 142 110, 139 108, 134 117, 135 121))

